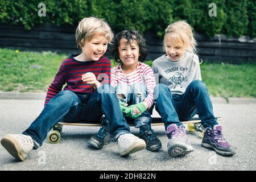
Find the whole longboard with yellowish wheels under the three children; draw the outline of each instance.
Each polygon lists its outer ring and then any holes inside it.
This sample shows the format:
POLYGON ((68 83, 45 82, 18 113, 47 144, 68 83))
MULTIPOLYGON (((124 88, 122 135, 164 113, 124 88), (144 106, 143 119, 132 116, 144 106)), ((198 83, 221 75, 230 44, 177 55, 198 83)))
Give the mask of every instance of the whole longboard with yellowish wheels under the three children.
MULTIPOLYGON (((104 117, 102 117, 103 119, 104 117)), ((216 117, 217 121, 223 120, 221 117, 216 117)), ((181 121, 183 124, 188 125, 188 131, 195 132, 198 131, 204 136, 204 127, 201 124, 201 120, 198 117, 194 117, 189 119, 189 121, 181 121)), ((134 121, 127 121, 129 126, 134 126, 134 121)), ((53 127, 51 131, 49 131, 47 135, 47 139, 49 143, 58 143, 60 142, 61 138, 61 131, 64 125, 68 126, 101 126, 101 121, 90 121, 90 122, 76 122, 76 123, 69 123, 69 122, 59 122, 57 125, 53 127)), ((152 118, 151 126, 163 126, 164 123, 162 122, 162 118, 154 117, 152 118)))

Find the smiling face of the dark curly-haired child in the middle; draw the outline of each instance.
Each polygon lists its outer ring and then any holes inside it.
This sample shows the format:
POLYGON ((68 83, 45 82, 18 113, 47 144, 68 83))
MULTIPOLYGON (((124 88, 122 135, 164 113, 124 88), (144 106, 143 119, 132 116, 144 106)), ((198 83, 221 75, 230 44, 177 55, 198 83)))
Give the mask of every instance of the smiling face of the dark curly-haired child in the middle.
POLYGON ((120 39, 118 46, 119 58, 125 67, 137 67, 139 61, 139 47, 137 40, 127 42, 127 39, 120 39))

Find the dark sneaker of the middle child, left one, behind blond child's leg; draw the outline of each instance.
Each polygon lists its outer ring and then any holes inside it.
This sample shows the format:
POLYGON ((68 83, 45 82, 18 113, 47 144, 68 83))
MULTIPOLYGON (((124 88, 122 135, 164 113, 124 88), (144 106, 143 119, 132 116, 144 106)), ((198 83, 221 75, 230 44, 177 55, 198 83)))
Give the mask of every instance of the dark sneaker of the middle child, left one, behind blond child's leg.
POLYGON ((108 144, 111 141, 109 134, 109 128, 104 126, 98 131, 97 135, 90 138, 89 143, 95 148, 101 149, 104 144, 108 144))

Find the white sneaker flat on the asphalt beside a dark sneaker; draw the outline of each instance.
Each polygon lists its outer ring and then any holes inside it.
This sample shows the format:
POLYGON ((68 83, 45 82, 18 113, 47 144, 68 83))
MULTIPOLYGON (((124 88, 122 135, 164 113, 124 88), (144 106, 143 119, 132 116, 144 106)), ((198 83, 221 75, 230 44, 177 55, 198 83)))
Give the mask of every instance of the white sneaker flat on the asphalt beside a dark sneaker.
POLYGON ((121 156, 133 154, 146 148, 146 142, 133 134, 123 134, 118 138, 118 150, 121 156))

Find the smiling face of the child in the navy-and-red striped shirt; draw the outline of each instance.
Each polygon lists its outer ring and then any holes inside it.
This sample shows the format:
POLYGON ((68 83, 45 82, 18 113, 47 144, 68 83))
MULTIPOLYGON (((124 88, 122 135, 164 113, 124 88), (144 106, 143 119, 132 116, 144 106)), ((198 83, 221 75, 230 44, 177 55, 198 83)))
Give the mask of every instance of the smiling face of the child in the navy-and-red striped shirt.
POLYGON ((108 48, 108 39, 106 35, 96 33, 90 40, 85 40, 82 47, 82 54, 86 61, 98 61, 104 55, 108 48))

